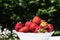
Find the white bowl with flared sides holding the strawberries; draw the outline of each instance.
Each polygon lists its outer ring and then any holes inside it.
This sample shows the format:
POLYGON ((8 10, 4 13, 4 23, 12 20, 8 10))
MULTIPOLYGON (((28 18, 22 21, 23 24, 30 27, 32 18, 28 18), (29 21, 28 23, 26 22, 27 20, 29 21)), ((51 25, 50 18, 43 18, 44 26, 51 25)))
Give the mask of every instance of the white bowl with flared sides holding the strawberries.
POLYGON ((48 40, 53 32, 50 33, 22 33, 16 32, 20 40, 48 40))

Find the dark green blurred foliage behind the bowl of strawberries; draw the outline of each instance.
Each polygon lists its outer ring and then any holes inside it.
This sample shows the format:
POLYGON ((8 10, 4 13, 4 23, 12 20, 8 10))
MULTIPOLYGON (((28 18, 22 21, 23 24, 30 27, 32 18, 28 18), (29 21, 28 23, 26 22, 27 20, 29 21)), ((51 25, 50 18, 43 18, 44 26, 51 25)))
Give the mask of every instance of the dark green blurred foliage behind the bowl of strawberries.
POLYGON ((13 30, 18 21, 25 23, 38 15, 54 25, 54 35, 60 35, 60 0, 0 0, 2 30, 13 30))

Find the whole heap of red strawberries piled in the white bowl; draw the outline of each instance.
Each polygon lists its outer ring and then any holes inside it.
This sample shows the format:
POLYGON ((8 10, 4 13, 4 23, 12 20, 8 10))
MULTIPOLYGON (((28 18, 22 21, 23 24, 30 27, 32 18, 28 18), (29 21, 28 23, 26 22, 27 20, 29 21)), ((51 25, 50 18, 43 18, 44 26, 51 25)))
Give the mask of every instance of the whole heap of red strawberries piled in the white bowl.
POLYGON ((24 25, 21 22, 15 24, 15 30, 24 33, 45 33, 52 32, 53 25, 38 16, 34 16, 32 21, 27 21, 24 25))

